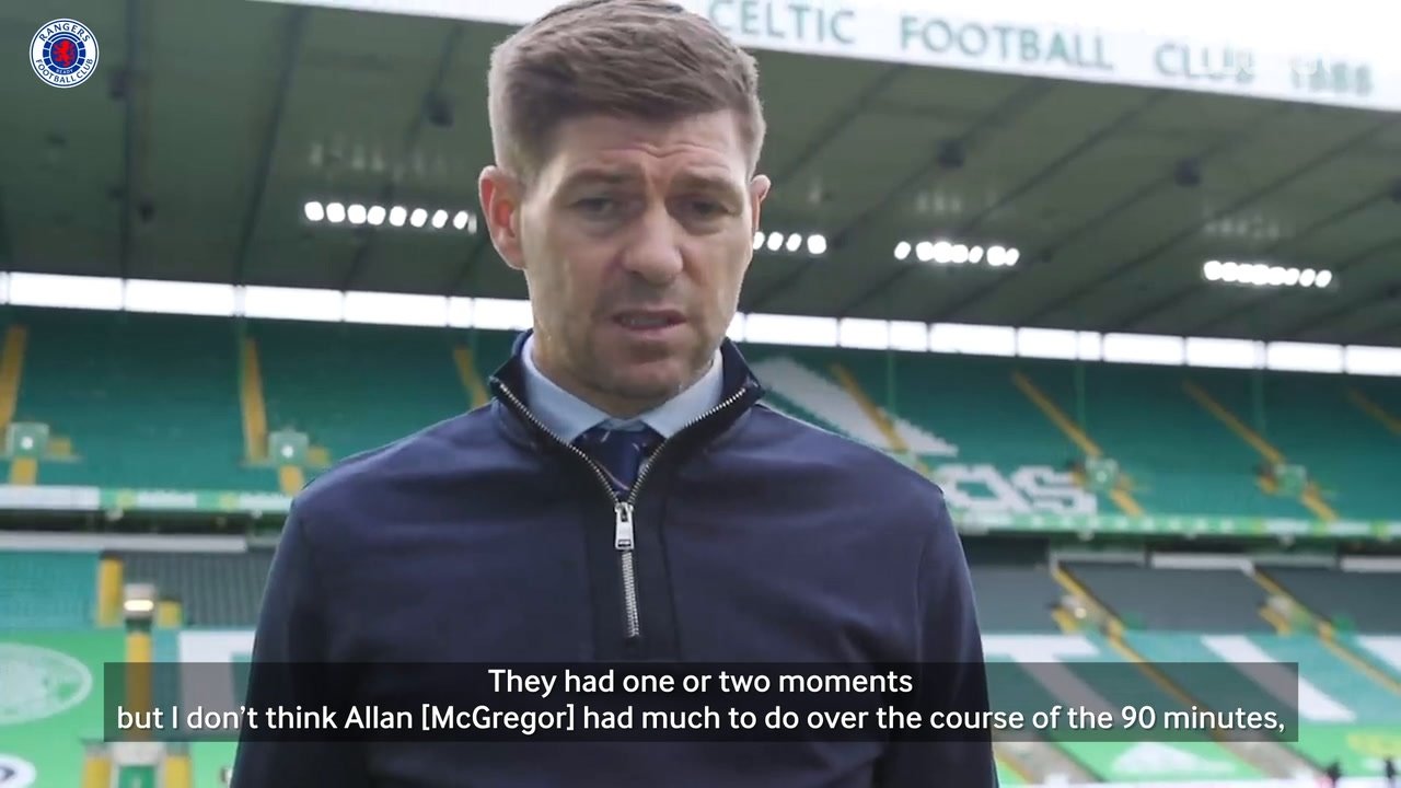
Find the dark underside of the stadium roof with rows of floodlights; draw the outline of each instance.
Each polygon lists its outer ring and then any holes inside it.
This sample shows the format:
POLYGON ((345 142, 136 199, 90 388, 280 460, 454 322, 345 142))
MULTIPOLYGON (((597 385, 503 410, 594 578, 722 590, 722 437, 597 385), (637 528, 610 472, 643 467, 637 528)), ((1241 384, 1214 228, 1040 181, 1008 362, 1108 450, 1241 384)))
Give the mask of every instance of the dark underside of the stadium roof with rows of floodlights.
MULTIPOLYGON (((0 268, 524 296, 457 219, 476 208, 486 59, 507 28, 261 3, 64 13, 99 38, 92 80, 0 72, 21 108, 0 114, 0 268), (332 224, 310 201, 427 210, 419 229, 332 224)), ((4 50, 49 14, 0 8, 4 50)), ((759 57, 764 224, 782 244, 759 238, 743 311, 1401 345, 1395 114, 759 57), (955 254, 939 240, 981 261, 920 259, 955 254), (992 245, 1016 265, 989 265, 992 245), (1212 259, 1332 280, 1208 282, 1212 259)))

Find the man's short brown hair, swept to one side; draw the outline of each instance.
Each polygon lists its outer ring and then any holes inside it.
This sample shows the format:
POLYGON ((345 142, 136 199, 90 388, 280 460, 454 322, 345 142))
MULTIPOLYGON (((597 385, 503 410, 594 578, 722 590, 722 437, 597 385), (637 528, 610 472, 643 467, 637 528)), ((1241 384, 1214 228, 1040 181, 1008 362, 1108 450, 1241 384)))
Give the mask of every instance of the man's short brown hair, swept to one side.
POLYGON ((671 122, 731 109, 750 149, 764 146, 754 57, 664 0, 572 0, 492 53, 488 112, 496 163, 532 179, 570 119, 619 115, 671 122))

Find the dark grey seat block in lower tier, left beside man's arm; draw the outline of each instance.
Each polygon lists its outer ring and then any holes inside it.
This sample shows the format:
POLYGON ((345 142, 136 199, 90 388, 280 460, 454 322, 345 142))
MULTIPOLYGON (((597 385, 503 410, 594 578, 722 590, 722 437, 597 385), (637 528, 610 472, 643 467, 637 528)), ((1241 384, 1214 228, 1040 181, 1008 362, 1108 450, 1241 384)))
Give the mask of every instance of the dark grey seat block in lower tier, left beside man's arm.
POLYGON ((270 551, 120 552, 127 582, 156 583, 181 602, 186 627, 251 627, 258 621, 270 551))

